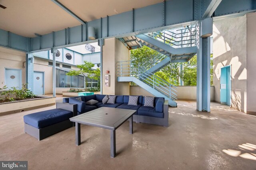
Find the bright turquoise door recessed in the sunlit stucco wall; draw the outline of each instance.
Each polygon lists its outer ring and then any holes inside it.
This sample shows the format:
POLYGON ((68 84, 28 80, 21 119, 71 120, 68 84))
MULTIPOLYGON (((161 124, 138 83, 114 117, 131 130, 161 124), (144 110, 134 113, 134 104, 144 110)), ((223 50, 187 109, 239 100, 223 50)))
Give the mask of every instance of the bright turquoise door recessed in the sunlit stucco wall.
POLYGON ((220 72, 220 103, 226 104, 227 68, 221 68, 220 72))

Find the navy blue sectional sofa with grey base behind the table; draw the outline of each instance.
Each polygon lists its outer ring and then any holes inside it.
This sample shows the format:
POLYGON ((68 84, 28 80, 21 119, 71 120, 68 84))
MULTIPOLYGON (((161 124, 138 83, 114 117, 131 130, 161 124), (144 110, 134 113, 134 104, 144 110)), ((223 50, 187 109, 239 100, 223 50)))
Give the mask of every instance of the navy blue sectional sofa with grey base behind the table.
POLYGON ((100 107, 113 107, 120 109, 132 109, 137 112, 133 115, 133 120, 136 123, 149 123, 154 125, 161 125, 168 127, 168 101, 165 101, 163 97, 154 98, 154 107, 144 106, 144 97, 138 97, 138 105, 128 105, 129 95, 116 95, 116 101, 114 104, 106 103, 102 104, 102 99, 106 95, 90 95, 90 96, 77 96, 64 98, 63 103, 72 103, 77 105, 77 114, 86 113, 100 107), (77 98, 81 97, 82 101, 77 98), (98 103, 94 105, 86 104, 87 101, 94 99, 98 103))

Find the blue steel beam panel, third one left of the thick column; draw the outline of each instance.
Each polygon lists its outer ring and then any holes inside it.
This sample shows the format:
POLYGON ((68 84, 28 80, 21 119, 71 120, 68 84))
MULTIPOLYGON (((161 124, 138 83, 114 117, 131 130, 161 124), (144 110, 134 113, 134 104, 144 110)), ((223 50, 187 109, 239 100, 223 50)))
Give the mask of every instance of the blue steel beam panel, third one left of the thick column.
POLYGON ((109 36, 116 36, 132 32, 132 11, 124 12, 119 15, 110 16, 108 21, 109 36), (122 20, 125 20, 126 22, 122 22, 122 20))

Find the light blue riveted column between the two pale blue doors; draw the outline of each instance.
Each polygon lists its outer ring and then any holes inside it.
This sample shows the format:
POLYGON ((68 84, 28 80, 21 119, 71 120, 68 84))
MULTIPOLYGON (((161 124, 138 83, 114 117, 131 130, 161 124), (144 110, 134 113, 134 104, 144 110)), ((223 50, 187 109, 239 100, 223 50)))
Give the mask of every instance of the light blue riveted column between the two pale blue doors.
POLYGON ((28 89, 34 91, 34 56, 33 53, 26 53, 26 83, 28 89))

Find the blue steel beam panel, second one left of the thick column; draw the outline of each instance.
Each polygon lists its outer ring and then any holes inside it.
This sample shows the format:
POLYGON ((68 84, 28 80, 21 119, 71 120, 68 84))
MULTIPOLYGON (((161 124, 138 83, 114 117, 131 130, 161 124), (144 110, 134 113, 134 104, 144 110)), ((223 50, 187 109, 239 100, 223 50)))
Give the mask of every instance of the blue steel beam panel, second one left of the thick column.
POLYGON ((142 31, 161 26, 164 26, 164 3, 134 10, 134 31, 142 31))

